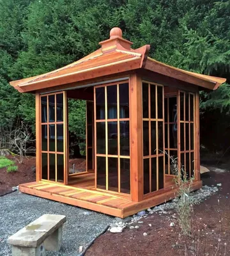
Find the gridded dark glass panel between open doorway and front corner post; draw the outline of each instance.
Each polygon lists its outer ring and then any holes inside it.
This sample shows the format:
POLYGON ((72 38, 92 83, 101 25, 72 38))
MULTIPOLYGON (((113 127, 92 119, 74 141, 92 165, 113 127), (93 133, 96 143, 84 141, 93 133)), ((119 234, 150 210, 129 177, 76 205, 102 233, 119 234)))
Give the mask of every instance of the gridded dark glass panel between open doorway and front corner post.
POLYGON ((95 87, 96 188, 130 194, 128 82, 95 87))

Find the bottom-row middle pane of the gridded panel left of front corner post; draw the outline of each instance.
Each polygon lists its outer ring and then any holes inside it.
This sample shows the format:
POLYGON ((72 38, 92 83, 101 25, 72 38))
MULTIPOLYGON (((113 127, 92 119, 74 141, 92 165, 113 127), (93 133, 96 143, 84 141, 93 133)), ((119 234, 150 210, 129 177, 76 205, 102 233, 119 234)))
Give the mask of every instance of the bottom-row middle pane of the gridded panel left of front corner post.
POLYGON ((118 192, 118 158, 108 157, 108 189, 118 192))

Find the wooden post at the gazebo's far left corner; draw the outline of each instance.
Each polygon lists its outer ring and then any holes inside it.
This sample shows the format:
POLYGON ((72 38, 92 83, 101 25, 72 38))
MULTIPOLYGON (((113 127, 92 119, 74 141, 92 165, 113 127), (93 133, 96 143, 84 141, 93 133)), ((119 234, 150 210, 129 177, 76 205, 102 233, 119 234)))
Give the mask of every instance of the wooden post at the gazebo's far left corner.
POLYGON ((40 95, 36 93, 35 96, 35 109, 36 109, 36 182, 42 179, 42 136, 41 136, 41 105, 40 95))

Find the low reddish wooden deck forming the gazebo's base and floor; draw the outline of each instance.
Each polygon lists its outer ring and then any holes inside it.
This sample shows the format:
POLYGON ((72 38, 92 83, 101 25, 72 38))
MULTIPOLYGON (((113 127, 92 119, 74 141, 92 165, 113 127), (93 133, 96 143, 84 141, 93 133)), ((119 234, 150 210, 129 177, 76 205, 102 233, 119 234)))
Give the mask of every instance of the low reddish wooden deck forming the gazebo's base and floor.
MULTIPOLYGON (((97 191, 94 187, 94 173, 71 177, 69 181, 70 184, 68 186, 46 181, 31 182, 21 184, 19 189, 22 193, 103 212, 120 218, 125 218, 141 210, 171 200, 175 197, 176 192, 176 188, 171 186, 172 179, 169 180, 167 178, 166 184, 168 186, 164 191, 156 193, 155 196, 151 195, 151 197, 142 202, 132 202, 129 198, 124 198, 117 194, 97 191)), ((199 189, 201 186, 201 181, 194 182, 192 189, 199 189)))

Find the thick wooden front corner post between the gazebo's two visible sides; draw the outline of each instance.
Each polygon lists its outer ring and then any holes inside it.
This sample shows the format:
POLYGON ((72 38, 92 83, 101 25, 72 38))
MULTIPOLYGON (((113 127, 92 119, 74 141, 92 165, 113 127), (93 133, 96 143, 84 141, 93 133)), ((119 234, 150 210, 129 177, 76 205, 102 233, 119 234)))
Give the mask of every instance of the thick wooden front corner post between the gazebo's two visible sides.
POLYGON ((131 198, 140 202, 143 198, 142 157, 142 93, 141 77, 130 76, 130 183, 131 198))

